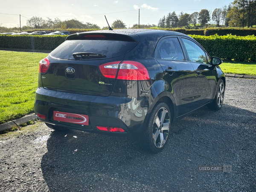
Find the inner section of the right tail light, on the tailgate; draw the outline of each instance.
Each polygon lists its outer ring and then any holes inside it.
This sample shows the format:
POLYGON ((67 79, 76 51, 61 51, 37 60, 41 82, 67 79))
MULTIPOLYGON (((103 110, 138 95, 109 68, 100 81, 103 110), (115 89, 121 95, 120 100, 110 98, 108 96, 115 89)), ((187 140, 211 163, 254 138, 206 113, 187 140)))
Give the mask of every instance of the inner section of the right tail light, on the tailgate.
POLYGON ((115 61, 110 63, 105 63, 99 66, 99 70, 102 75, 106 78, 115 79, 118 70, 118 65, 121 61, 115 61))

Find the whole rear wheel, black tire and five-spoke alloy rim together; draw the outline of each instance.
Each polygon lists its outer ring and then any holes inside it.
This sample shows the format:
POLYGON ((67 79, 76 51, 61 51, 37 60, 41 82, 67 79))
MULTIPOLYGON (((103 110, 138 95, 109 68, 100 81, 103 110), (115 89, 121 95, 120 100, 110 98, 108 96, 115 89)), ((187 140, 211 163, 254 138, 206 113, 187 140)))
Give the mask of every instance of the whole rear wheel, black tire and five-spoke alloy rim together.
POLYGON ((139 144, 149 152, 162 151, 168 141, 170 127, 171 113, 169 107, 166 103, 161 102, 153 108, 148 123, 139 136, 139 144))

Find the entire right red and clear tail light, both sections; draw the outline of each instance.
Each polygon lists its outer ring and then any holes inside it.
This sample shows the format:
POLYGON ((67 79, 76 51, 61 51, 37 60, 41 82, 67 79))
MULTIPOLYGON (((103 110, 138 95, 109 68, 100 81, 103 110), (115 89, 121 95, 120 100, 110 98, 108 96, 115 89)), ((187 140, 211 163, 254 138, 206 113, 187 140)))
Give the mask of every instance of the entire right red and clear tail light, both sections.
POLYGON ((146 81, 149 80, 149 73, 147 68, 137 61, 120 61, 102 64, 99 70, 102 75, 110 79, 119 79, 127 81, 146 81), (116 77, 116 73, 118 75, 116 77))

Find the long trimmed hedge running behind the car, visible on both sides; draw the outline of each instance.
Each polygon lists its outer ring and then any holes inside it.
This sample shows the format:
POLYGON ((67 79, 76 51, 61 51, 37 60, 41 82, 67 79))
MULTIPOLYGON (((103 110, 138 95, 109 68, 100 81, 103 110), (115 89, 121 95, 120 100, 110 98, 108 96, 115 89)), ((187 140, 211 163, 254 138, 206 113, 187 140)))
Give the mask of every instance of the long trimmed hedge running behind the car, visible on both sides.
MULTIPOLYGON (((256 61, 256 36, 190 35, 211 56, 223 60, 256 61)), ((53 50, 65 41, 67 35, 0 35, 1 48, 53 50)))

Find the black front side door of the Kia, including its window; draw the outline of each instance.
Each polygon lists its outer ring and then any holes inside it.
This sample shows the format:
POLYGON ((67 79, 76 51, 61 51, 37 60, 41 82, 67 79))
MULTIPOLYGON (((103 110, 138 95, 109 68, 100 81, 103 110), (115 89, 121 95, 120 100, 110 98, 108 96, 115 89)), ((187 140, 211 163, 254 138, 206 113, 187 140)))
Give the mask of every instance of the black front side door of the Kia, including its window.
POLYGON ((181 39, 186 49, 188 61, 190 61, 196 73, 195 89, 193 94, 193 108, 196 109, 212 100, 216 87, 215 71, 214 68, 212 68, 212 65, 207 61, 207 53, 197 42, 186 37, 181 37, 181 39))

